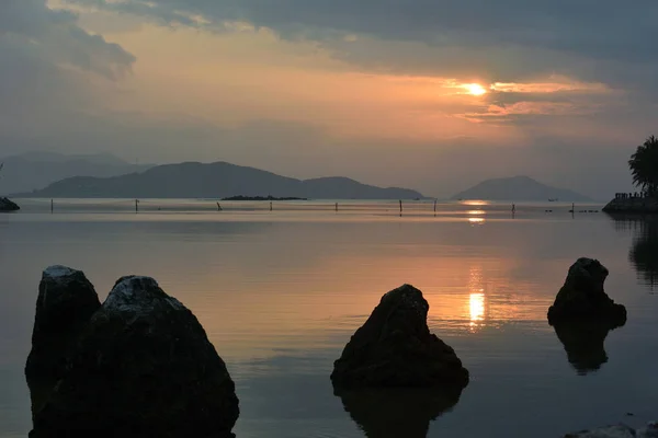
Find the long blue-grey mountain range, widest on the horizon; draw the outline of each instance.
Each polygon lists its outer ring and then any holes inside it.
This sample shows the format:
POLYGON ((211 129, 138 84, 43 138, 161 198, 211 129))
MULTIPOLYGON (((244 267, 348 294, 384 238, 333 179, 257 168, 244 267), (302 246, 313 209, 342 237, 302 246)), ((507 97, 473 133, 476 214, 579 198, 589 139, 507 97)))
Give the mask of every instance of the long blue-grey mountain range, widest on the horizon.
POLYGON ((412 189, 382 188, 347 177, 295 180, 226 162, 164 164, 111 177, 75 176, 14 197, 224 198, 274 196, 313 199, 415 199, 412 189))

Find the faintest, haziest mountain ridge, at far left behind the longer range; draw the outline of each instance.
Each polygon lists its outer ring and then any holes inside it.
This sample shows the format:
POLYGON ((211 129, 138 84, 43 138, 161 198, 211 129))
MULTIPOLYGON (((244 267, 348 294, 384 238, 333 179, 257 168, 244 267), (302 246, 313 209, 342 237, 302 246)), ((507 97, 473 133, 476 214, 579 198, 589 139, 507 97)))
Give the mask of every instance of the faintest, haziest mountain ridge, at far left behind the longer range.
POLYGON ((0 159, 0 193, 39 189, 70 176, 116 176, 139 172, 152 164, 129 164, 114 155, 66 155, 55 152, 26 152, 0 159))

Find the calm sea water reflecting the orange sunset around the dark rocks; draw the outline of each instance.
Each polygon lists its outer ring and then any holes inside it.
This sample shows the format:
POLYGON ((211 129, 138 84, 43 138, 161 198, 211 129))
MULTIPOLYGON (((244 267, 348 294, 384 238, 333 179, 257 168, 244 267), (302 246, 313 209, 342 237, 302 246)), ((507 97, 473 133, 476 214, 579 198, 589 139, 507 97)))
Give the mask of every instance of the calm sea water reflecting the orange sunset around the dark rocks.
POLYGON ((188 306, 236 380, 239 438, 424 436, 430 418, 412 402, 395 415, 416 431, 400 435, 378 414, 385 401, 348 401, 345 412, 329 380, 350 335, 405 283, 423 291, 431 330, 472 376, 427 436, 548 438, 658 416, 658 222, 559 203, 519 204, 513 218, 510 205, 476 203, 435 214, 405 203, 401 217, 397 201, 339 201, 338 211, 333 201, 223 203, 218 212, 214 200, 146 199, 135 214, 132 200, 56 200, 53 215, 49 200, 20 204, 0 216, 0 437, 31 428, 23 366, 52 264, 84 270, 101 299, 139 274, 188 306), (546 322, 579 256, 609 267, 606 291, 628 310, 585 367, 546 322))

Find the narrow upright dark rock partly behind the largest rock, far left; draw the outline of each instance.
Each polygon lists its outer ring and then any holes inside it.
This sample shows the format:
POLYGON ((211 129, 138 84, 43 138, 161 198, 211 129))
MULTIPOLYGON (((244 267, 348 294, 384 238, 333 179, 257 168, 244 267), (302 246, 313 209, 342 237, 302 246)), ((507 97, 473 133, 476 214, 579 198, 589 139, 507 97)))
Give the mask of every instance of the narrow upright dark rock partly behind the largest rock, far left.
POLYGON ((33 411, 41 408, 55 382, 64 376, 77 336, 100 307, 99 296, 82 272, 66 266, 50 266, 43 272, 32 350, 25 364, 33 411))

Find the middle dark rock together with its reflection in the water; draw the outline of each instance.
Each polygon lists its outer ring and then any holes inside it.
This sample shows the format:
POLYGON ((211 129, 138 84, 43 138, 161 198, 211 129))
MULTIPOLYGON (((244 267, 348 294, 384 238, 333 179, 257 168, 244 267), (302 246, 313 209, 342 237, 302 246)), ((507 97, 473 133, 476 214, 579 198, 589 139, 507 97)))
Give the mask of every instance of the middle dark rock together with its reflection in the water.
POLYGON ((333 393, 368 437, 427 437, 468 384, 455 350, 430 333, 429 309, 411 285, 385 293, 333 364, 333 393))

